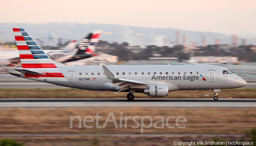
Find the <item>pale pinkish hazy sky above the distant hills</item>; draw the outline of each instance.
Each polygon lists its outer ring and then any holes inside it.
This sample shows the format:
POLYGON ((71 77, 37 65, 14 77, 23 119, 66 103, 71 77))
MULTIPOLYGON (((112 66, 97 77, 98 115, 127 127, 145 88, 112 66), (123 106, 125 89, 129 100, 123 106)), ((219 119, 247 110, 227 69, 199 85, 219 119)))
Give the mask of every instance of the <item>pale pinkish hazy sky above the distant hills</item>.
POLYGON ((256 36, 256 0, 2 0, 0 4, 0 23, 104 23, 256 36))

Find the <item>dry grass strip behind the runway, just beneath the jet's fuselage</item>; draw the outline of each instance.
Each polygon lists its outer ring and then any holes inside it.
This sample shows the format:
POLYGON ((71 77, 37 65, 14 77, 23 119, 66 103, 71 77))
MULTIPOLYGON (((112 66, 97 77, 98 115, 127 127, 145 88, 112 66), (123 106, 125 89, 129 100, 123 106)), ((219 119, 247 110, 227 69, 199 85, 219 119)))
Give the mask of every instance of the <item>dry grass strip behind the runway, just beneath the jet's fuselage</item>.
MULTIPOLYGON (((189 99, 189 98, 211 98, 213 90, 178 90, 169 92, 166 97, 150 97, 143 93, 135 93, 135 98, 152 98, 152 99, 189 99)), ((99 91, 89 91, 80 89, 0 89, 0 98, 76 98, 76 99, 126 99, 127 92, 111 92, 105 91, 103 94, 99 91)), ((219 98, 242 98, 255 99, 256 89, 239 88, 224 89, 218 93, 219 98)))

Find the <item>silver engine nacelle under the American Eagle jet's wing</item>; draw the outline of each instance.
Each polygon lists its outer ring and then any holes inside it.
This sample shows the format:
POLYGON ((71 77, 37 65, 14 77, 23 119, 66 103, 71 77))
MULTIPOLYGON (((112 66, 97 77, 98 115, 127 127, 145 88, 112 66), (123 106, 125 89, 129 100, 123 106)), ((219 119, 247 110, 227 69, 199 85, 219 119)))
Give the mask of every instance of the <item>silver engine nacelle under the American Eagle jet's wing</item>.
POLYGON ((149 88, 144 89, 144 94, 153 97, 168 96, 168 85, 151 85, 149 88))

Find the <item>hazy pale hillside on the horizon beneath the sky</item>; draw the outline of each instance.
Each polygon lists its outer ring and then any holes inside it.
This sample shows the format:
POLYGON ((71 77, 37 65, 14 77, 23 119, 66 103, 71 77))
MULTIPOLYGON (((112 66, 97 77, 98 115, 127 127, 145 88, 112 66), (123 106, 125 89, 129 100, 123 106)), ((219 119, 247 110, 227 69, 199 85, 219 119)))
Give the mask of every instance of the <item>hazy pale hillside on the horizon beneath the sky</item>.
MULTIPOLYGON (((80 40, 87 33, 94 30, 104 30, 100 40, 108 41, 109 43, 127 42, 129 45, 146 45, 157 46, 202 46, 214 45, 216 40, 218 44, 236 43, 235 45, 256 45, 255 39, 245 39, 236 34, 220 34, 215 32, 197 32, 178 30, 174 28, 142 28, 135 26, 125 26, 116 24, 80 24, 80 23, 44 23, 44 24, 31 24, 31 23, 0 23, 0 41, 14 41, 12 28, 23 28, 34 38, 38 43, 44 41, 44 45, 57 45, 59 40, 80 40), (232 40, 236 36, 236 40, 232 40), (60 39, 61 38, 61 39, 60 39)), ((54 46, 55 46, 54 45, 54 46)))

